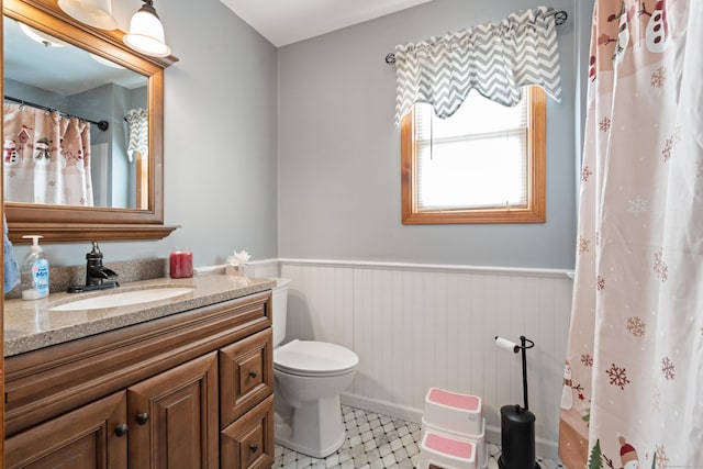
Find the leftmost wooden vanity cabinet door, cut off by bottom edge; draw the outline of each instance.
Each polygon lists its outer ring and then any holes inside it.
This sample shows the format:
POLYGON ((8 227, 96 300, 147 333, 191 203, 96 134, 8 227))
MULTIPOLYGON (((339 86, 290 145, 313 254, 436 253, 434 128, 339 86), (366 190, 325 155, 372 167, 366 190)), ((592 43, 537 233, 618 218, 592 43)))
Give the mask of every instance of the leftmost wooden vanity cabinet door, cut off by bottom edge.
POLYGON ((7 468, 126 469, 125 423, 119 392, 7 439, 7 468))

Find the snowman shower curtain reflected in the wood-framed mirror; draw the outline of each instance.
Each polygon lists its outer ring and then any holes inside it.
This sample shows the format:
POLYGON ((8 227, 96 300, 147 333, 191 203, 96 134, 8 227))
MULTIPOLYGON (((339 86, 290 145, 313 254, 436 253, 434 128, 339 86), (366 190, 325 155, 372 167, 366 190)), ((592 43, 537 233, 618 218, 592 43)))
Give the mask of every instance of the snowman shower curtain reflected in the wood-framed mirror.
POLYGON ((5 201, 93 204, 88 122, 5 103, 3 135, 5 201))

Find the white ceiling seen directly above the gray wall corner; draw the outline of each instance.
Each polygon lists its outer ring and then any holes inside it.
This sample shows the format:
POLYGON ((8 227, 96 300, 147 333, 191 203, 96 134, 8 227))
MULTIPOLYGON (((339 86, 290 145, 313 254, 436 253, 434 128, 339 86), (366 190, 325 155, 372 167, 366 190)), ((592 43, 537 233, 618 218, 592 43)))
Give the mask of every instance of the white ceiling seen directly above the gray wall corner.
POLYGON ((276 47, 432 0, 220 0, 276 47))

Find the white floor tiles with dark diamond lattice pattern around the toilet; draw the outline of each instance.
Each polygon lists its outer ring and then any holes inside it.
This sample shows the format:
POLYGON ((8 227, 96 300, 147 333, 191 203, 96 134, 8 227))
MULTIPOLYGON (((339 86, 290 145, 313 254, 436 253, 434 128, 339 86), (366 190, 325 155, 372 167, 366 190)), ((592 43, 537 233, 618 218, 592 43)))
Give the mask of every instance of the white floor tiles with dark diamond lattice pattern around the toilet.
MULTIPOLYGON (((347 439, 339 450, 325 459, 312 458, 276 445, 275 468, 284 469, 413 469, 420 454, 420 425, 386 415, 342 406, 347 439)), ((499 446, 488 445, 488 469, 498 469, 499 446)), ((553 459, 539 458, 542 469, 562 466, 553 459)))

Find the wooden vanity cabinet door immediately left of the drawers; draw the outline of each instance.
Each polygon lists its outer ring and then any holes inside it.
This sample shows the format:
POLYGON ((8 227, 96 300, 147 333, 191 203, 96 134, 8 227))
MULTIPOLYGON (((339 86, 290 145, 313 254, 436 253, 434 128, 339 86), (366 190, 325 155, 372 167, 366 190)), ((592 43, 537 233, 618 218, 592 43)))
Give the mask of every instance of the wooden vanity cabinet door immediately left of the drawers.
POLYGON ((127 389, 130 469, 217 469, 217 355, 127 389))

